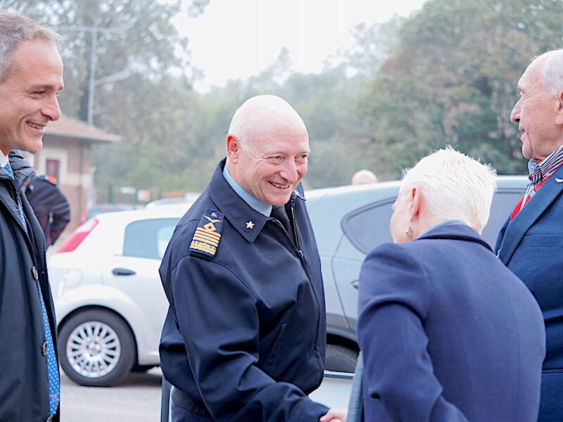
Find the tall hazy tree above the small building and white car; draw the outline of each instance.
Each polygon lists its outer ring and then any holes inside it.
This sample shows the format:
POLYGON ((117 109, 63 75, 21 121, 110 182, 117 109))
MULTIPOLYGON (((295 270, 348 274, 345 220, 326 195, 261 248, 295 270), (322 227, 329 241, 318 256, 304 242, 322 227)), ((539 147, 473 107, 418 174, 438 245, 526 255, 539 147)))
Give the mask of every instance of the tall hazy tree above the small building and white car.
MULTIPOLYGON (((65 38, 65 90, 60 97, 65 115, 86 120, 94 53, 94 123, 121 136, 119 143, 96 152, 96 183, 179 186, 194 152, 187 39, 171 23, 181 1, 10 3, 6 6, 51 25, 65 38), (99 30, 95 40, 94 28, 99 30)), ((207 3, 195 1, 189 13, 201 13, 207 3)))

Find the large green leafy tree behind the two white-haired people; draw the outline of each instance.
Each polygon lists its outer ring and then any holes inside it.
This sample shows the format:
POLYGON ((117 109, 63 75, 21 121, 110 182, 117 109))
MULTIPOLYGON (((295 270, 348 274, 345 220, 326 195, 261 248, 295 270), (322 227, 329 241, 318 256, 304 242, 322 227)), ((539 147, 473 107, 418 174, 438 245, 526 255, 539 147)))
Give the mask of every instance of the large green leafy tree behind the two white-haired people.
POLYGON ((563 2, 433 0, 405 22, 362 96, 369 153, 389 175, 452 144, 524 172, 509 122, 519 75, 562 41, 563 2))

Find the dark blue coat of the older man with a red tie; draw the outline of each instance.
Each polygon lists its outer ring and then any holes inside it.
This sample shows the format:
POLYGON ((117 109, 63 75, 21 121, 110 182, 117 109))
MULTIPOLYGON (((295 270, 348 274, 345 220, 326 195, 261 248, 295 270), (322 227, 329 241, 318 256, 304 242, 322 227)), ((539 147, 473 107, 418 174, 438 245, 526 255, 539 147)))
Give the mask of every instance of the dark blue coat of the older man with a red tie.
POLYGON ((541 422, 563 421, 563 167, 500 230, 498 257, 538 300, 545 321, 541 422), (559 180, 559 182, 557 181, 559 180))

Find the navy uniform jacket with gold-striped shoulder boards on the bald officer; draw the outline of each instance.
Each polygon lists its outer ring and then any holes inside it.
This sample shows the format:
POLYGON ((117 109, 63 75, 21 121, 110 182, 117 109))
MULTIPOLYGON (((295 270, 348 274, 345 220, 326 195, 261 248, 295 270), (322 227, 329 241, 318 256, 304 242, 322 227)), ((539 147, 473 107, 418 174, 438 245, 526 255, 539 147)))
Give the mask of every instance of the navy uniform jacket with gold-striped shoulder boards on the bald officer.
POLYGON ((286 204, 298 245, 222 175, 180 220, 160 266, 170 301, 160 363, 175 421, 317 422, 326 321, 305 200, 286 204), (186 411, 186 409, 188 409, 186 411), (182 416, 179 416, 182 415, 182 416))

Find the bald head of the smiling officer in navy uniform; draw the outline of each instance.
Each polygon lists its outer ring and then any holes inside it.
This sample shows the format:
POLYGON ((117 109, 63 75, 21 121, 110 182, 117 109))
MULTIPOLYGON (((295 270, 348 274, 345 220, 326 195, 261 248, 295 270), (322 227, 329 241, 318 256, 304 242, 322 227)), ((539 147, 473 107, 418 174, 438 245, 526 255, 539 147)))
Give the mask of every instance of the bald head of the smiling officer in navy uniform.
POLYGON ((227 134, 227 169, 245 191, 282 205, 307 173, 309 136, 282 98, 260 95, 236 110, 227 134))

